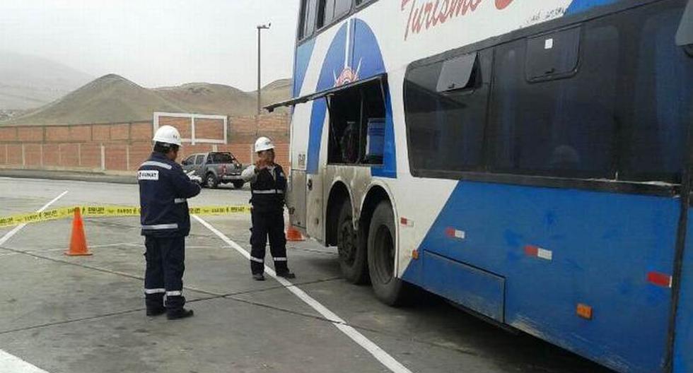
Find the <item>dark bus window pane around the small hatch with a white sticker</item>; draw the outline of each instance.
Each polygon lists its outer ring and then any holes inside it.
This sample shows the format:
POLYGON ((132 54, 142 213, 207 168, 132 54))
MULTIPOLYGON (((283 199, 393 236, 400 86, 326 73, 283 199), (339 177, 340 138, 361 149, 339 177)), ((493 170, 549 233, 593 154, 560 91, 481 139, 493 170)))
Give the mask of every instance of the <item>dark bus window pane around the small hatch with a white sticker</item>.
POLYGON ((525 79, 525 69, 532 68, 525 68, 525 48, 533 40, 496 48, 491 103, 496 172, 615 177, 618 41, 615 27, 590 23, 576 75, 537 83, 525 79))

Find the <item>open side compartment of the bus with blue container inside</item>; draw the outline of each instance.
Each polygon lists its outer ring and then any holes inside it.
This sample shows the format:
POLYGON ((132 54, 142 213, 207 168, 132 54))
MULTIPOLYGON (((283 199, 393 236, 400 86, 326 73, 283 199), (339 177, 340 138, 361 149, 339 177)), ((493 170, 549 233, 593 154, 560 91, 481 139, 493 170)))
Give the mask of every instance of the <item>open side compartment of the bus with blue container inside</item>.
POLYGON ((329 97, 330 134, 327 162, 383 163, 384 88, 380 81, 347 88, 329 97))

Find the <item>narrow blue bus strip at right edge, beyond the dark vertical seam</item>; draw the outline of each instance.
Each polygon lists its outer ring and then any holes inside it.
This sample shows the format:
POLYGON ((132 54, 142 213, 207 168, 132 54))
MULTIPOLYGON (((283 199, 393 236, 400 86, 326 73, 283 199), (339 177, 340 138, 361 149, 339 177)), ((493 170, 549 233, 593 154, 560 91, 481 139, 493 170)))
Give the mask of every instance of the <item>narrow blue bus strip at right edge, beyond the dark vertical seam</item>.
POLYGON ((674 372, 693 372, 693 213, 688 214, 686 251, 679 290, 674 344, 674 372))

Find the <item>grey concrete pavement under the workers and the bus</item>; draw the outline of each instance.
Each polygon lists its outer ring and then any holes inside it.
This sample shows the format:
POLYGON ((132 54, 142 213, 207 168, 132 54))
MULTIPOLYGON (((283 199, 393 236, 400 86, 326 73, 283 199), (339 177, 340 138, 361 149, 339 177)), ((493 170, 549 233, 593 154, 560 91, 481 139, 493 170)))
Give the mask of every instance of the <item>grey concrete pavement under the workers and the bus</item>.
MULTIPOLYGON (((138 203, 135 185, 0 178, 0 216, 35 211, 64 191, 52 207, 138 203)), ((207 189, 191 204, 247 201, 248 191, 207 189)), ((250 279, 237 251, 248 249, 247 215, 202 218, 233 242, 193 221, 185 295, 196 314, 183 321, 144 315, 136 218, 87 220, 94 255, 82 258, 62 254, 69 220, 16 231, 0 244, 0 372, 15 359, 51 373, 390 372, 380 360, 405 367, 396 372, 608 372, 437 297, 386 307, 339 278, 334 249, 290 243, 294 285, 343 319, 337 328, 276 280, 250 279), (343 330, 363 336, 361 345, 343 330)), ((0 228, 0 242, 11 231, 0 228)))

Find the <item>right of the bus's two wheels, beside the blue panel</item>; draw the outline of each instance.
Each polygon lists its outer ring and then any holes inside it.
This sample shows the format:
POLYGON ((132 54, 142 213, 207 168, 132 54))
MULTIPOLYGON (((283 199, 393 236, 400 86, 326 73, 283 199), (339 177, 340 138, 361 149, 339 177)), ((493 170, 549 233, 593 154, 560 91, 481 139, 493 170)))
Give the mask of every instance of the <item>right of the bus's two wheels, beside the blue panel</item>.
POLYGON ((407 283, 395 274, 395 215, 389 201, 375 207, 368 230, 368 273, 378 300, 390 306, 406 302, 407 283))

